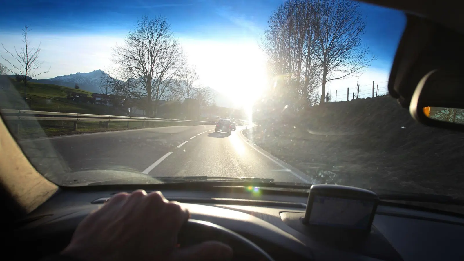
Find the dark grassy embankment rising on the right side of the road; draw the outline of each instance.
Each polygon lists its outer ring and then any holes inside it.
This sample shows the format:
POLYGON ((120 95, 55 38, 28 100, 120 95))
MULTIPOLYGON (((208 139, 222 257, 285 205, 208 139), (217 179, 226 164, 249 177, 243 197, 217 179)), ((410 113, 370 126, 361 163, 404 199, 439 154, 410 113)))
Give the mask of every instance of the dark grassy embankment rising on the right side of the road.
POLYGON ((464 134, 427 127, 391 97, 310 107, 248 137, 322 183, 464 196, 464 134))

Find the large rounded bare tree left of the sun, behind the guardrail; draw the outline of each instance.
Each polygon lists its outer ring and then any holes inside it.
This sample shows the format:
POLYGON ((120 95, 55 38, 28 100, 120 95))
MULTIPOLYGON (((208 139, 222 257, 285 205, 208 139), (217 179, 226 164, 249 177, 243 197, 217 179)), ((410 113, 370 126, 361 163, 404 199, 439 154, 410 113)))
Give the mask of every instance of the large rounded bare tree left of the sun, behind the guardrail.
POLYGON ((166 18, 143 16, 125 43, 113 48, 113 57, 118 68, 110 77, 111 91, 144 100, 148 117, 156 116, 158 101, 168 98, 185 66, 183 51, 166 18))

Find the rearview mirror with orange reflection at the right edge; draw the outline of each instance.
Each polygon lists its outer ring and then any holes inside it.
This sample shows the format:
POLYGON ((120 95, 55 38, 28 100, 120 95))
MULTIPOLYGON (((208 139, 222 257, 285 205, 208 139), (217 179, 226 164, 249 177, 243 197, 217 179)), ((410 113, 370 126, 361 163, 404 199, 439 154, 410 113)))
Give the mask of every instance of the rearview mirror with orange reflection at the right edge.
POLYGON ((427 73, 412 94, 409 111, 422 124, 464 131, 464 78, 454 69, 427 73))

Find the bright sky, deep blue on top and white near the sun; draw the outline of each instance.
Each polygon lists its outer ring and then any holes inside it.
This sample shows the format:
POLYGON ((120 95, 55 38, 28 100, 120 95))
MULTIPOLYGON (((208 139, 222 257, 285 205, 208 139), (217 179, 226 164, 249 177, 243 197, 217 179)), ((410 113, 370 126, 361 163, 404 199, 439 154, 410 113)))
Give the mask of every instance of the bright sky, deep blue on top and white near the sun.
MULTIPOLYGON (((271 13, 282 0, 103 0, 7 1, 0 10, 0 43, 7 50, 22 46, 21 29, 30 26, 32 46, 39 46, 43 68, 37 78, 104 70, 111 65, 111 48, 121 44, 142 15, 166 16, 188 62, 200 75, 200 84, 248 105, 265 88, 266 56, 258 43, 271 13), (12 10, 26 6, 27 15, 12 10), (244 94, 246 94, 244 96, 244 94)), ((363 42, 376 60, 358 78, 361 97, 372 95, 372 82, 387 91, 393 56, 406 24, 398 11, 361 4, 366 16, 363 42)), ((0 53, 6 56, 0 47, 0 53)), ((6 62, 0 58, 0 63, 6 62)), ((346 100, 347 87, 357 79, 329 82, 337 100, 346 100)), ((350 95, 351 99, 352 95, 350 95)))

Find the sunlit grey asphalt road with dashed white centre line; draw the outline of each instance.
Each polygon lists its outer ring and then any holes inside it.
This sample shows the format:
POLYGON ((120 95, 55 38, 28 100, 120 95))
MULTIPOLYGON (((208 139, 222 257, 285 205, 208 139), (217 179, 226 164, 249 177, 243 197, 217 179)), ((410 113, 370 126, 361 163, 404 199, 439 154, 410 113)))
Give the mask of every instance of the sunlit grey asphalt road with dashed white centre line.
POLYGON ((146 176, 259 177, 278 182, 310 182, 308 176, 247 141, 241 133, 245 126, 237 126, 230 136, 215 133, 214 127, 110 131, 21 144, 39 172, 64 185, 146 176), (129 172, 134 176, 128 176, 129 172))

